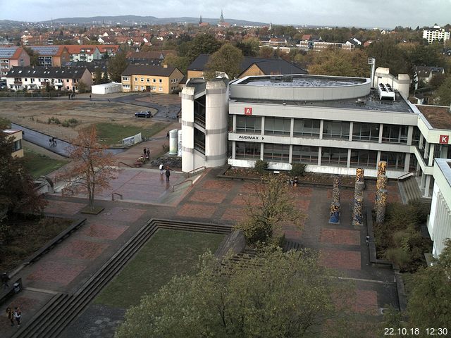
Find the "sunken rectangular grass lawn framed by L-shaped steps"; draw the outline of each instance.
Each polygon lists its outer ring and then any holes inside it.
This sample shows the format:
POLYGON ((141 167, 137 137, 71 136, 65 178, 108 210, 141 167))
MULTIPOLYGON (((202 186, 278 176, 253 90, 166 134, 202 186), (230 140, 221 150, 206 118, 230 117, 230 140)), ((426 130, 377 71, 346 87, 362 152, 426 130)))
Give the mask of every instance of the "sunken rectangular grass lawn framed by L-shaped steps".
POLYGON ((221 234, 160 229, 94 299, 94 303, 129 308, 144 294, 159 290, 175 275, 193 273, 199 255, 216 251, 221 234))

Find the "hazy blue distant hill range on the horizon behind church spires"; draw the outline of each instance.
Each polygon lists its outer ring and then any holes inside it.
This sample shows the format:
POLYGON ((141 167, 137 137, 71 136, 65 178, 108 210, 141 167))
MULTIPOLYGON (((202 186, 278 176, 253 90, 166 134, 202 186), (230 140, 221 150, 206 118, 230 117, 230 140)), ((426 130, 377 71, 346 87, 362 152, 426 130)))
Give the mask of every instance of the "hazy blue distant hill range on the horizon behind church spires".
MULTIPOLYGON (((237 26, 264 26, 267 23, 257 21, 225 19, 230 25, 237 26)), ((43 21, 43 23, 72 23, 75 25, 92 25, 105 23, 107 25, 163 25, 166 23, 199 23, 199 18, 181 17, 181 18, 156 18, 154 16, 140 15, 118 15, 118 16, 93 16, 91 18, 58 18, 54 20, 43 21)), ((216 25, 218 18, 202 18, 205 23, 216 25)))

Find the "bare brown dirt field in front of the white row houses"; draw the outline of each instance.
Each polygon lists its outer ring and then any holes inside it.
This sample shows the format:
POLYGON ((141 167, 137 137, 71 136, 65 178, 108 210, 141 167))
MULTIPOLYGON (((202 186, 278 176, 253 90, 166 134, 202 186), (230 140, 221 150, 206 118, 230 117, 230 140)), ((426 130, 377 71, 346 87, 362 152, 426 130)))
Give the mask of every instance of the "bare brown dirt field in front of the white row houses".
MULTIPOLYGON (((135 118, 135 113, 142 110, 137 106, 116 102, 93 101, 1 101, 0 118, 7 118, 13 123, 30 127, 34 130, 54 135, 59 139, 70 139, 77 135, 78 129, 92 123, 117 123, 150 127, 154 124, 149 118, 135 118), (78 123, 73 127, 63 127, 47 123, 49 118, 64 120, 75 118, 78 123)), ((152 109, 150 109, 152 111, 152 109)), ((154 113, 154 111, 152 111, 154 113)))

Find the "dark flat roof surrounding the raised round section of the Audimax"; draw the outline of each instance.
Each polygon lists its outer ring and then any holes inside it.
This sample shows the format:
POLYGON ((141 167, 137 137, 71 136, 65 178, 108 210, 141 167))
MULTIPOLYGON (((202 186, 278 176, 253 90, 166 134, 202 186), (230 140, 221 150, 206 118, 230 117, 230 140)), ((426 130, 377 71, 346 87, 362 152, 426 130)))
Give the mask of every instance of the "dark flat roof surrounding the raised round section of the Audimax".
POLYGON ((254 104, 286 104, 287 106, 313 106, 313 107, 330 107, 344 109, 359 109, 363 111, 390 111, 393 113, 414 113, 409 104, 407 104, 401 96, 397 99, 380 100, 379 94, 375 89, 371 89, 369 95, 359 97, 358 99, 340 99, 325 101, 276 101, 262 99, 234 99, 235 102, 249 102, 254 104))

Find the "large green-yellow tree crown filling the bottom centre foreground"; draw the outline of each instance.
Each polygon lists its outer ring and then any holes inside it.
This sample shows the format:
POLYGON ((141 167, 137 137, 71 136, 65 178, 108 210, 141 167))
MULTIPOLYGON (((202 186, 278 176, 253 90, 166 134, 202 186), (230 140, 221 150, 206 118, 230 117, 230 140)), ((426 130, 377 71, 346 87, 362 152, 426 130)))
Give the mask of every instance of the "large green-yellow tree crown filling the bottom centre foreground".
POLYGON ((307 249, 222 264, 206 253, 196 275, 174 277, 130 308, 115 337, 330 337, 333 295, 348 293, 307 249))

